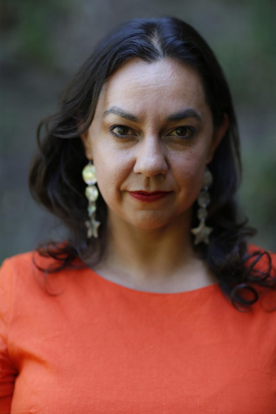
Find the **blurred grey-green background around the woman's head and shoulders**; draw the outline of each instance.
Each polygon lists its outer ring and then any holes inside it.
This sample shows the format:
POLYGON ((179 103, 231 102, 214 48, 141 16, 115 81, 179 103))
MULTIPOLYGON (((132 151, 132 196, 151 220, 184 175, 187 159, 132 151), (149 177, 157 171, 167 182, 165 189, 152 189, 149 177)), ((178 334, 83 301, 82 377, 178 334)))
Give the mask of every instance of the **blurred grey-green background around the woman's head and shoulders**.
POLYGON ((163 14, 192 24, 226 73, 244 165, 238 197, 258 229, 252 243, 276 250, 274 0, 0 0, 0 262, 65 234, 28 191, 38 122, 107 31, 163 14))

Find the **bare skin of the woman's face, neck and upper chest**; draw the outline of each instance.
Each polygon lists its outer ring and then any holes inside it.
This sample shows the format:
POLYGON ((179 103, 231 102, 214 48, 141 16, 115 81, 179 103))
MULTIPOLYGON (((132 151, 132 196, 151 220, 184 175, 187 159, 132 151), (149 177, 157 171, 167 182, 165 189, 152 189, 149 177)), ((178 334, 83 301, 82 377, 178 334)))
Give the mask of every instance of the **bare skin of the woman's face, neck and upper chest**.
POLYGON ((98 274, 143 291, 177 292, 216 283, 190 242, 192 204, 208 164, 228 128, 214 130, 198 73, 173 58, 133 58, 103 85, 94 119, 82 135, 98 188, 108 206, 108 243, 98 274), (103 113, 120 107, 141 122, 103 113), (193 108, 202 120, 173 122, 193 108), (114 125, 122 125, 110 133, 114 125), (182 129, 179 129, 182 127, 182 129), (194 128, 192 131, 185 127, 194 128), (129 191, 170 191, 151 203, 129 191))

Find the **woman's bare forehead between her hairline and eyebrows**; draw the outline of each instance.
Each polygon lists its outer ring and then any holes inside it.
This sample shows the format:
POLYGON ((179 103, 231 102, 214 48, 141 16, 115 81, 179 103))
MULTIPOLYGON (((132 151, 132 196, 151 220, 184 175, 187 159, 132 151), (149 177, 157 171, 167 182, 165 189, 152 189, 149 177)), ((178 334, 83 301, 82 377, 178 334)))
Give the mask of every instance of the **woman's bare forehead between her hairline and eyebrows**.
POLYGON ((122 106, 143 113, 167 113, 183 106, 206 109, 202 79, 196 70, 173 58, 154 63, 132 58, 105 82, 98 110, 122 106))

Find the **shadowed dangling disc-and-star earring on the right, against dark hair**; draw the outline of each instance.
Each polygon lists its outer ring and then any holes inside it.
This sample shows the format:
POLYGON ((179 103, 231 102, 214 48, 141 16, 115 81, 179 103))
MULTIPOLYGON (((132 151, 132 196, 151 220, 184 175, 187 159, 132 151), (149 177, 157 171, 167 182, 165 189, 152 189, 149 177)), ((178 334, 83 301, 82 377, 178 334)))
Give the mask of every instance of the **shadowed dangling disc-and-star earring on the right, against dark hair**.
POLYGON ((209 170, 209 168, 205 167, 204 172, 204 179, 203 179, 203 186, 202 190, 199 193, 197 198, 197 203, 199 205, 199 209, 197 210, 197 218, 200 220, 199 226, 191 229, 191 232, 194 234, 195 240, 194 244, 198 243, 205 243, 209 244, 209 234, 214 230, 212 227, 207 227, 205 225, 205 219, 208 216, 208 212, 206 207, 211 202, 210 193, 208 192, 209 187, 211 187, 213 183, 213 174, 209 170))

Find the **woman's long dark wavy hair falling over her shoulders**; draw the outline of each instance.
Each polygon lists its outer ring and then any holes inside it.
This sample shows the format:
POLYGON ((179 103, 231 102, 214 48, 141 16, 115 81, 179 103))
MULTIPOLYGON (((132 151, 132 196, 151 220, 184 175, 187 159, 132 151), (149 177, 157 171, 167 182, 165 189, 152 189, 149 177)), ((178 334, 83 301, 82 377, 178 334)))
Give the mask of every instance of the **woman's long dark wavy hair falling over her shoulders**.
MULTIPOLYGON (((210 188, 211 205, 206 223, 214 230, 209 245, 199 243, 194 250, 207 263, 221 291, 235 308, 241 310, 237 306, 240 304, 242 311, 251 310, 251 305, 259 298, 252 284, 261 289, 276 290, 276 278, 272 275, 270 253, 250 251, 247 238, 257 231, 246 226, 247 219, 240 217, 235 200, 242 166, 230 90, 206 41, 192 26, 175 17, 136 18, 113 29, 98 43, 62 93, 58 112, 39 124, 39 151, 31 166, 29 188, 36 201, 65 223, 70 236, 65 243, 50 242, 38 247, 36 250, 41 256, 55 259, 54 265, 47 269, 38 268, 48 274, 67 267, 87 266, 88 262, 95 265, 103 256, 107 240, 107 208, 100 193, 96 201, 96 218, 102 223, 99 237, 86 237, 87 200, 82 169, 87 159, 80 135, 93 120, 104 82, 133 57, 147 63, 170 57, 194 68, 203 81, 215 129, 223 122, 223 114, 228 114, 229 128, 209 164, 214 183, 210 188), (42 127, 45 127, 45 135, 41 141, 42 127), (268 258, 265 271, 256 268, 263 255, 268 258)), ((192 227, 198 224, 197 208, 194 202, 192 227)))

